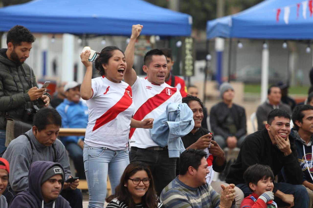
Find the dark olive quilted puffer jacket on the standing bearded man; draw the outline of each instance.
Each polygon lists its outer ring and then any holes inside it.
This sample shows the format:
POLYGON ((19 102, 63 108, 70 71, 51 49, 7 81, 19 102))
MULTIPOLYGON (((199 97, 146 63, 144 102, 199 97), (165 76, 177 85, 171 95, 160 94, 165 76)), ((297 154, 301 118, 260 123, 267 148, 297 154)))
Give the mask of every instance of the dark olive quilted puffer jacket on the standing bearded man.
MULTIPOLYGON (((22 119, 25 108, 31 108, 32 102, 28 95, 28 90, 33 87, 38 87, 33 69, 26 63, 18 65, 7 57, 8 49, 0 49, 0 109, 4 114, 8 113, 10 118, 22 119), (11 67, 13 76, 9 73, 8 67, 11 67), (23 74, 22 68, 25 74, 23 74), (33 80, 31 80, 32 73, 33 80)), ((45 92, 50 100, 48 92, 45 92)), ((37 99, 39 106, 44 106, 42 99, 37 99)), ((6 129, 5 117, 0 113, 0 129, 6 129)))

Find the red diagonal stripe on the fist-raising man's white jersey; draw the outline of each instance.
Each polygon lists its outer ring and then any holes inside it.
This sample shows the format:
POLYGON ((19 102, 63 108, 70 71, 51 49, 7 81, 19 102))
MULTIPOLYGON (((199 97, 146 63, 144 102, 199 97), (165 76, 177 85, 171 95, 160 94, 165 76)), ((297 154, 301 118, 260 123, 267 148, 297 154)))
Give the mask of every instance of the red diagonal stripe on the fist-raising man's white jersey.
MULTIPOLYGON (((165 87, 162 92, 159 94, 156 94, 155 96, 149 98, 144 104, 142 104, 138 110, 136 111, 135 115, 133 116, 133 119, 137 121, 141 121, 147 114, 149 114, 151 111, 156 109, 158 106, 160 106, 162 103, 166 102, 172 95, 174 95, 177 91, 177 88, 173 87, 165 87), (167 89, 170 89, 172 92, 171 95, 167 94, 167 89)), ((131 128, 131 131, 129 133, 129 139, 134 134, 134 131, 136 128, 131 128)))

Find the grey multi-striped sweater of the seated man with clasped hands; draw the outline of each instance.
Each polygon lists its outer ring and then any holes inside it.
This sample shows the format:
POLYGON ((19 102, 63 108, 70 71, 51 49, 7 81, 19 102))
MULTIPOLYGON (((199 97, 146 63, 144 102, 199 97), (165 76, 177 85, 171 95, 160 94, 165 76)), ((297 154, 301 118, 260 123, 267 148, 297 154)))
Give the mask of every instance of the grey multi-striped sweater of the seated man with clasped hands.
MULTIPOLYGON (((187 186, 178 179, 170 182, 161 193, 161 201, 167 208, 218 208, 220 195, 208 184, 198 188, 187 186)), ((236 208, 236 204, 231 208, 236 208)))

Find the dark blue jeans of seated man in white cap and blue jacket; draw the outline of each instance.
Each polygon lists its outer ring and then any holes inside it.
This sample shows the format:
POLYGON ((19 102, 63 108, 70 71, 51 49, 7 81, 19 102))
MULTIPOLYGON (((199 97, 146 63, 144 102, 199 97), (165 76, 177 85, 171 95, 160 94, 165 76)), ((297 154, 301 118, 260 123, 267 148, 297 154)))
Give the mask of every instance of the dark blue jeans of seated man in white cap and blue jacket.
POLYGON ((66 144, 65 149, 69 151, 69 157, 74 162, 74 166, 77 171, 76 177, 79 177, 79 179, 86 179, 83 160, 83 150, 81 149, 81 147, 74 142, 70 142, 66 144))

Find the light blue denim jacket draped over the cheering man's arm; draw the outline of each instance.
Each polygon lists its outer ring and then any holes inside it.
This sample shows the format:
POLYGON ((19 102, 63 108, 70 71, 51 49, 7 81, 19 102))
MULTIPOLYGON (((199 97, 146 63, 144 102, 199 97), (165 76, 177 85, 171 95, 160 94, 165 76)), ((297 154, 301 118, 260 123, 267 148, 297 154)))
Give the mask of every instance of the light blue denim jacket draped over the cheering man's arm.
POLYGON ((179 152, 185 151, 181 137, 194 125, 193 112, 187 103, 169 103, 166 111, 153 122, 150 136, 159 146, 168 146, 169 157, 179 157, 179 152))

